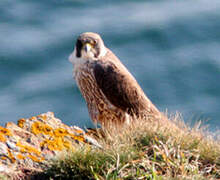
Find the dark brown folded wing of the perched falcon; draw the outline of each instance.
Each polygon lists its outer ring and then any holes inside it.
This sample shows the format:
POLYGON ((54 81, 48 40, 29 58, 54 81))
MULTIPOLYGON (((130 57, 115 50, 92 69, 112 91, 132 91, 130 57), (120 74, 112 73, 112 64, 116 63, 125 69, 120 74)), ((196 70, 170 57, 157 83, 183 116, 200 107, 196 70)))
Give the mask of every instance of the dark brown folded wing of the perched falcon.
POLYGON ((136 115, 147 108, 146 99, 142 97, 138 84, 130 74, 120 71, 111 61, 96 61, 93 69, 98 87, 114 106, 136 115))

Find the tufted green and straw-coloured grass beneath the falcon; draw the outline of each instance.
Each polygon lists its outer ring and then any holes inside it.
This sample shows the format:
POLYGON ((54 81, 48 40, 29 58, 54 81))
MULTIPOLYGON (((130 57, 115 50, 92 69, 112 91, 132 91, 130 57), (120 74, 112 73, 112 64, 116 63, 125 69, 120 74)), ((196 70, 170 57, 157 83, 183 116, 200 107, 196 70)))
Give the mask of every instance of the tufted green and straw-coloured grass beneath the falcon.
POLYGON ((179 115, 97 130, 102 149, 79 148, 51 161, 44 179, 220 179, 220 141, 179 115))

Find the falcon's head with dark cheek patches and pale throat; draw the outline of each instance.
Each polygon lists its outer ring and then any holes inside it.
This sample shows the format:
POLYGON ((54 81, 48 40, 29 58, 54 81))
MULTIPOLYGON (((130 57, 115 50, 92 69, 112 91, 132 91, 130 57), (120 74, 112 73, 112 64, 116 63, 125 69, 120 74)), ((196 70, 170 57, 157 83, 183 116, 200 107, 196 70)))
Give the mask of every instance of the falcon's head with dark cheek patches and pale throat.
POLYGON ((69 61, 74 63, 74 59, 97 60, 105 54, 106 47, 102 38, 97 33, 86 32, 77 38, 69 61))

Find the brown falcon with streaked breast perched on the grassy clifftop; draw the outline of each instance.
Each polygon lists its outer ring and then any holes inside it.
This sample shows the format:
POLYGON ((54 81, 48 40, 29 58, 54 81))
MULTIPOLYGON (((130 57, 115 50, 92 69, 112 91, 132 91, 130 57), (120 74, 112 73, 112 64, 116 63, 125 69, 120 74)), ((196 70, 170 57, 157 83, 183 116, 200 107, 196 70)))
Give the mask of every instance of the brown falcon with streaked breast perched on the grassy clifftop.
POLYGON ((161 118, 161 112, 98 33, 80 34, 69 61, 94 123, 107 126, 161 118))

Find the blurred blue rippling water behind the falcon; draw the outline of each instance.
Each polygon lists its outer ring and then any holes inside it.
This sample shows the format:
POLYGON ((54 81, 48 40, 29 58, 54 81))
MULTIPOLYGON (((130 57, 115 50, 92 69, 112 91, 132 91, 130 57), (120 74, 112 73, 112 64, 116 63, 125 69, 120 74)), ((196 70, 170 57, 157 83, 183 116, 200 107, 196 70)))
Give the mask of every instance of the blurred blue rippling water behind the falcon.
POLYGON ((53 111, 92 126, 68 56, 101 34, 161 111, 220 127, 220 1, 1 0, 0 125, 53 111))

